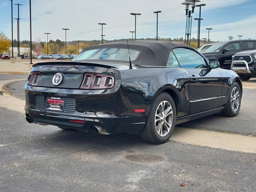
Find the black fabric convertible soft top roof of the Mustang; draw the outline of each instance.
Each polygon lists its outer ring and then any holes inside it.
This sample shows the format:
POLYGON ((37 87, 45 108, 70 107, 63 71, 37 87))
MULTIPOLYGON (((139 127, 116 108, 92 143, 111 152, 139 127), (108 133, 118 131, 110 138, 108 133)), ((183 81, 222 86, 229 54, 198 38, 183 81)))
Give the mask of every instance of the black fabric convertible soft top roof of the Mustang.
MULTIPOLYGON (((186 44, 167 42, 167 41, 128 41, 129 49, 138 50, 140 54, 136 60, 132 61, 132 64, 139 66, 166 66, 167 58, 170 54, 170 50, 176 47, 192 48, 186 44)), ((127 49, 127 41, 111 42, 106 44, 100 44, 85 48, 82 52, 87 50, 93 50, 98 48, 125 48, 127 49)), ((84 60, 85 61, 85 60, 84 60)), ((96 61, 96 60, 88 60, 96 61)), ((102 60, 99 60, 102 61, 102 60)), ((104 60, 110 61, 111 60, 104 60)), ((112 60, 113 61, 113 60, 112 60)), ((114 62, 117 62, 114 60, 114 62)), ((122 61, 128 63, 128 61, 122 61)))

